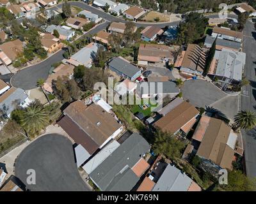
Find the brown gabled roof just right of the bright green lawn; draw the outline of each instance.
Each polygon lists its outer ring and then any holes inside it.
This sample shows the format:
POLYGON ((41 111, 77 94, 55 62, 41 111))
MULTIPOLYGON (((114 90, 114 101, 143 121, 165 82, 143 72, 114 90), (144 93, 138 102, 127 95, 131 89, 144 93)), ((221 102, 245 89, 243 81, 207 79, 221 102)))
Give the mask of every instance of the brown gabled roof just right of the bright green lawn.
POLYGON ((191 119, 198 115, 198 110, 190 103, 183 101, 176 106, 172 111, 164 115, 161 119, 155 122, 155 126, 162 131, 176 133, 186 125, 191 119))

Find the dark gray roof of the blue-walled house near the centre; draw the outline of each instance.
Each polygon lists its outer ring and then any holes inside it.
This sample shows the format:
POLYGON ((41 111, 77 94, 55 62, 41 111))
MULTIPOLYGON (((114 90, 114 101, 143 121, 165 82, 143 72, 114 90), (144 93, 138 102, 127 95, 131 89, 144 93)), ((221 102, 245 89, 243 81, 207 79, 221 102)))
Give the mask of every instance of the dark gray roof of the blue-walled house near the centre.
POLYGON ((122 59, 122 57, 115 57, 109 62, 108 65, 112 66, 121 73, 124 73, 125 76, 130 78, 132 78, 136 73, 138 73, 138 71, 140 71, 139 68, 122 59))

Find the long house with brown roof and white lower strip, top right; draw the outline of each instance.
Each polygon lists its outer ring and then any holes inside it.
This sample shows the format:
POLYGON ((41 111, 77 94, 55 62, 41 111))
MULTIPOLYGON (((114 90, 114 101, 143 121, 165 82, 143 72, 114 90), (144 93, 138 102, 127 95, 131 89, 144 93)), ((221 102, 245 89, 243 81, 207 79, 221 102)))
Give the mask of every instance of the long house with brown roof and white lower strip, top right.
POLYGON ((220 38, 230 41, 236 41, 238 43, 242 43, 243 40, 243 33, 232 31, 228 29, 227 27, 214 27, 212 29, 212 35, 213 38, 220 38))

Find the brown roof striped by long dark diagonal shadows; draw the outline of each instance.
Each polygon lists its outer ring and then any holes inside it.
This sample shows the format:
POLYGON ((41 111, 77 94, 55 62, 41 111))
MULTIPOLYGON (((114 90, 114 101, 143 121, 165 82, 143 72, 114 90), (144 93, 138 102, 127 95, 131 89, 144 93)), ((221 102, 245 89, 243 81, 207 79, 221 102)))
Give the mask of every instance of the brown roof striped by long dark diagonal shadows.
POLYGON ((205 53, 202 48, 196 44, 189 44, 181 66, 195 71, 204 71, 205 53))

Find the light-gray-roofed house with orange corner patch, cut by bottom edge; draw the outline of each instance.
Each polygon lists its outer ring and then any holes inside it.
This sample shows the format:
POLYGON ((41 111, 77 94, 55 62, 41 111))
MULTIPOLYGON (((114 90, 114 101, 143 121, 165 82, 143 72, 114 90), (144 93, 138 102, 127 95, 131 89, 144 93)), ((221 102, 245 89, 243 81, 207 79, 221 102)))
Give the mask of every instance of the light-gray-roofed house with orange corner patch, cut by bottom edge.
POLYGON ((185 173, 168 164, 152 191, 202 191, 185 173))

